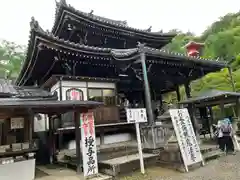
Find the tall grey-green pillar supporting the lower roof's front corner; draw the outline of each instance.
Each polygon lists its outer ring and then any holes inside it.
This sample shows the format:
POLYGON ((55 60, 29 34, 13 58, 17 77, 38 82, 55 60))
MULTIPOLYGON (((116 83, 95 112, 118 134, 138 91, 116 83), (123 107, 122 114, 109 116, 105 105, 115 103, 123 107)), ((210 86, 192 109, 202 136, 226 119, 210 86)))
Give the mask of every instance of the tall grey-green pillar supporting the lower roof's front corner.
POLYGON ((153 124, 154 118, 153 118, 153 111, 152 111, 152 98, 150 93, 150 87, 148 82, 148 76, 147 76, 147 67, 146 67, 146 55, 144 52, 144 47, 141 47, 140 49, 140 61, 142 64, 142 71, 143 71, 143 81, 144 81, 144 94, 145 94, 145 104, 146 104, 146 110, 148 114, 148 123, 153 124))

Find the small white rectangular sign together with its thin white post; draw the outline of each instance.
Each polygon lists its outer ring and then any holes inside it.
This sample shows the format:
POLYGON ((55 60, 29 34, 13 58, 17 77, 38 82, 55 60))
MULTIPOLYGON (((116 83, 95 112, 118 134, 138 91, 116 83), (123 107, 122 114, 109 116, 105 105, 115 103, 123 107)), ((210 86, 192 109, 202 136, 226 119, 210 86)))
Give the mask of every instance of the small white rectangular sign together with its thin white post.
POLYGON ((135 123, 141 173, 145 174, 139 123, 147 122, 146 109, 145 108, 131 108, 131 109, 129 108, 126 110, 126 113, 127 113, 128 123, 135 123))

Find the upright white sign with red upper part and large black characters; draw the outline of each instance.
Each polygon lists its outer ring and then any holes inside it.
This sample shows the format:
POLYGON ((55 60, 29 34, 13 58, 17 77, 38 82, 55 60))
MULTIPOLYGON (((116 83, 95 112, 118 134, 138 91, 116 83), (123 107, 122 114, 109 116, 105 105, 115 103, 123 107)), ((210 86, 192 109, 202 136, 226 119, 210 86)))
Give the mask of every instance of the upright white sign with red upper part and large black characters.
POLYGON ((97 146, 93 113, 82 113, 81 142, 84 177, 98 174, 97 146))

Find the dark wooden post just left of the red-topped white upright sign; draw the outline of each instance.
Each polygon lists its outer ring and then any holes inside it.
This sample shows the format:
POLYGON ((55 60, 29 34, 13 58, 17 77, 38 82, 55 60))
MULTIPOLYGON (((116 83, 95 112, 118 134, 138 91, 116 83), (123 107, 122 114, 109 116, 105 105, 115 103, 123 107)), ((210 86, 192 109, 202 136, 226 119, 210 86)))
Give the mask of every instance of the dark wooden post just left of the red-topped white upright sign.
MULTIPOLYGON (((75 140, 76 140, 76 156, 77 156, 77 174, 82 172, 81 170, 81 149, 80 149, 80 115, 77 111, 74 111, 74 122, 75 122, 75 140)), ((82 139, 82 141, 84 141, 82 139)))

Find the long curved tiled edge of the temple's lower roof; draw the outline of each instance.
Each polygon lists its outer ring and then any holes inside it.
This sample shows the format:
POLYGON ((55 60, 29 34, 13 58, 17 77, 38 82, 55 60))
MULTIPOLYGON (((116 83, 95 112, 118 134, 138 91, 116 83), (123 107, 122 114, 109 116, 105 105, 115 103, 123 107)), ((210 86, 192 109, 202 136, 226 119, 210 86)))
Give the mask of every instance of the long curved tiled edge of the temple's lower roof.
MULTIPOLYGON (((27 54, 26 54, 24 63, 22 65, 21 72, 18 76, 17 82, 20 81, 20 79, 19 79, 20 77, 25 76, 26 72, 24 71, 24 69, 26 69, 26 68, 28 68, 28 66, 30 66, 29 61, 32 57, 34 48, 36 48, 35 46, 37 45, 36 37, 44 38, 46 40, 46 42, 47 41, 50 43, 52 42, 53 45, 54 45, 54 43, 59 43, 60 46, 63 46, 65 49, 78 51, 78 52, 82 52, 82 53, 95 53, 100 56, 101 55, 110 55, 113 58, 124 58, 124 57, 129 57, 129 56, 132 57, 132 56, 135 56, 136 53, 138 52, 137 47, 132 48, 132 49, 111 49, 111 48, 88 46, 88 45, 84 45, 84 44, 73 43, 73 42, 70 42, 69 40, 64 40, 63 38, 54 36, 54 34, 52 32, 44 31, 41 28, 41 26, 39 25, 38 21, 36 21, 33 17, 30 22, 30 27, 31 27, 30 28, 30 37, 29 37, 29 42, 28 42, 27 54)), ((38 48, 41 48, 39 45, 40 44, 38 44, 38 48)), ((150 56, 156 55, 156 56, 159 56, 162 58, 166 57, 169 59, 175 59, 175 60, 179 60, 179 61, 190 60, 190 61, 193 61, 196 63, 201 63, 201 64, 206 63, 206 64, 212 64, 212 65, 219 65, 219 67, 225 66, 225 64, 223 62, 217 63, 216 60, 204 59, 201 57, 191 57, 191 56, 187 56, 187 55, 180 54, 180 53, 170 52, 167 50, 159 50, 159 49, 150 48, 150 47, 146 47, 146 46, 144 48, 145 48, 146 54, 150 55, 150 56)))

